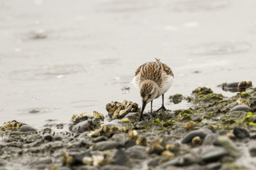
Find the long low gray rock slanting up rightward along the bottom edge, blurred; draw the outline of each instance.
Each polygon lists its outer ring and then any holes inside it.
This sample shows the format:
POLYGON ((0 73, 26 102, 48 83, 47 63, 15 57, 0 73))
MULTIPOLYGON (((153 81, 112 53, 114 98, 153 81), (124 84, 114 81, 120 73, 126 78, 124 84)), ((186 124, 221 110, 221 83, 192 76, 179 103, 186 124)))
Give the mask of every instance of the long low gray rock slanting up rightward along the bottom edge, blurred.
POLYGON ((168 166, 189 166, 191 164, 199 164, 202 162, 202 159, 198 157, 195 153, 188 153, 186 155, 183 155, 182 157, 177 157, 173 160, 170 160, 168 162, 165 162, 164 164, 161 164, 159 168, 166 168, 168 166))

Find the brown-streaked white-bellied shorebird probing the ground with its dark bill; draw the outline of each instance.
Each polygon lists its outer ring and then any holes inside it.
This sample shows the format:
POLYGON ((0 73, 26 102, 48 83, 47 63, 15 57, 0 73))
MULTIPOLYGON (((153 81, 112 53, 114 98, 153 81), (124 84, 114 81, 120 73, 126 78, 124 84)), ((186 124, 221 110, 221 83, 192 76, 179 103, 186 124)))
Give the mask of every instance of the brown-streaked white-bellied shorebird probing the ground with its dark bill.
POLYGON ((145 106, 149 102, 151 102, 150 117, 152 118, 153 100, 157 99, 159 96, 162 96, 163 101, 159 110, 166 110, 166 108, 164 108, 164 93, 170 89, 173 80, 174 75, 172 69, 163 62, 160 62, 159 59, 156 59, 154 62, 146 62, 136 69, 133 83, 140 89, 142 101, 139 121, 141 121, 145 106))

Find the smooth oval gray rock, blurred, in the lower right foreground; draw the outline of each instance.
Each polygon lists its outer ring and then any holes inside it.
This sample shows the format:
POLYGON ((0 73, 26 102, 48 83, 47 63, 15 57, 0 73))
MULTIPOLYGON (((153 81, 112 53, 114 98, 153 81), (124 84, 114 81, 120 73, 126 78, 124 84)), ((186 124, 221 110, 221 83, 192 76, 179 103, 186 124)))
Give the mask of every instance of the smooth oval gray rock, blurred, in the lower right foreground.
POLYGON ((228 155, 227 150, 220 146, 207 146, 203 148, 200 157, 205 162, 212 162, 221 159, 221 157, 228 155))

